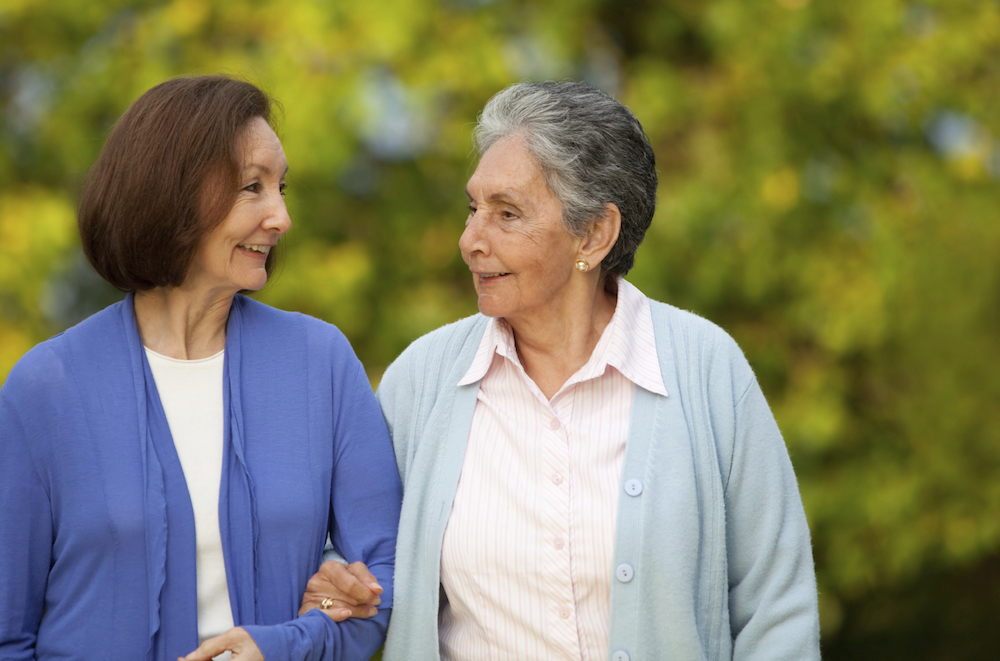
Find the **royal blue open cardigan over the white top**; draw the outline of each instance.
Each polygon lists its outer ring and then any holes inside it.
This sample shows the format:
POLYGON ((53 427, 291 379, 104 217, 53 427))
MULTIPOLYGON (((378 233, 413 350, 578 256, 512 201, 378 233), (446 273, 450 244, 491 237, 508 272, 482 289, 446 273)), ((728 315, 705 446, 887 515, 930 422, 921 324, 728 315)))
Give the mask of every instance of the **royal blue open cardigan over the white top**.
MULTIPOLYGON (((219 523, 233 619, 268 661, 367 659, 392 605, 401 491, 333 326, 237 296, 219 523), (379 614, 296 618, 330 534, 379 614)), ((0 389, 0 658, 174 661, 198 646, 194 515, 132 296, 29 351, 0 389)))

